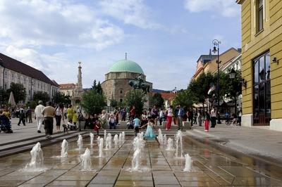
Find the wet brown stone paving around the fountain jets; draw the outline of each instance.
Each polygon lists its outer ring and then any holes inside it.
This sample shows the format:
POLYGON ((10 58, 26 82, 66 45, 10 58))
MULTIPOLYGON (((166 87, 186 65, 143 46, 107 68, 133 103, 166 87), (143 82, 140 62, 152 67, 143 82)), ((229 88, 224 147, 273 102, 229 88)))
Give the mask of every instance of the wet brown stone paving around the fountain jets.
MULTIPOLYGON (((173 138, 173 136, 168 136, 173 138)), ((97 157, 96 141, 84 138, 82 150, 76 141, 68 145, 68 157, 61 154, 61 143, 42 148, 45 172, 21 172, 30 162, 30 152, 0 159, 0 186, 282 186, 281 170, 268 171, 247 156, 226 155, 188 137, 183 137, 184 153, 192 157, 192 172, 183 172, 184 159, 174 158, 157 141, 146 141, 142 151, 143 172, 130 172, 133 136, 126 136, 121 147, 104 150, 97 157), (91 172, 80 171, 80 154, 91 150, 91 172), (260 169, 259 167, 262 167, 260 169)))

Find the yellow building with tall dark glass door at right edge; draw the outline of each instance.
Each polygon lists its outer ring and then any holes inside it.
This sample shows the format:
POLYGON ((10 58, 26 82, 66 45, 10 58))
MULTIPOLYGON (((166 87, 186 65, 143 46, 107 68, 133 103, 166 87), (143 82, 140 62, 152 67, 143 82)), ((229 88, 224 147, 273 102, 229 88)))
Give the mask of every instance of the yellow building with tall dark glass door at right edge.
POLYGON ((242 124, 282 131, 282 1, 237 3, 242 10, 242 124))

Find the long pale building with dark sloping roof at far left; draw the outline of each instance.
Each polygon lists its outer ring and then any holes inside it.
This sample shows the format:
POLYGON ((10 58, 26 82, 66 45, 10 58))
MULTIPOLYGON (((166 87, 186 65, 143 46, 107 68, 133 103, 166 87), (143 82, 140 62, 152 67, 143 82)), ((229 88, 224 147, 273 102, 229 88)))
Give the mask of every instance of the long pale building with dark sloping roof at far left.
POLYGON ((27 93, 24 102, 32 101, 32 96, 38 91, 48 93, 52 101, 59 91, 59 84, 51 81, 42 71, 0 53, 0 87, 10 89, 11 83, 23 84, 27 93))

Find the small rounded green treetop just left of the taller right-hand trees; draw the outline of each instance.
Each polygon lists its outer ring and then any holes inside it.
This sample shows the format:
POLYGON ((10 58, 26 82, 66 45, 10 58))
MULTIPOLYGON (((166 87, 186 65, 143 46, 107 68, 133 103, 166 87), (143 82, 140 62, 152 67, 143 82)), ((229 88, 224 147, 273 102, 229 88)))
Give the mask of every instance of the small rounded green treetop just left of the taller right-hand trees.
POLYGON ((176 93, 176 97, 173 99, 173 106, 181 105, 183 107, 191 107, 195 100, 190 90, 185 89, 176 93))

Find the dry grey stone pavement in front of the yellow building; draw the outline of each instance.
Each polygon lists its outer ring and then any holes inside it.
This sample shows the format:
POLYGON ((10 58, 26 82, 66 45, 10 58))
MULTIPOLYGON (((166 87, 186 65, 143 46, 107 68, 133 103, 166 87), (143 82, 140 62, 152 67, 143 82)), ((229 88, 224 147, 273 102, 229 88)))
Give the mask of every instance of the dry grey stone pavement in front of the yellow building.
POLYGON ((209 132, 204 132, 204 127, 195 126, 186 134, 202 142, 213 142, 214 145, 282 165, 282 132, 266 128, 217 124, 209 132))

